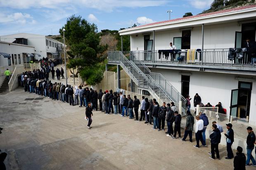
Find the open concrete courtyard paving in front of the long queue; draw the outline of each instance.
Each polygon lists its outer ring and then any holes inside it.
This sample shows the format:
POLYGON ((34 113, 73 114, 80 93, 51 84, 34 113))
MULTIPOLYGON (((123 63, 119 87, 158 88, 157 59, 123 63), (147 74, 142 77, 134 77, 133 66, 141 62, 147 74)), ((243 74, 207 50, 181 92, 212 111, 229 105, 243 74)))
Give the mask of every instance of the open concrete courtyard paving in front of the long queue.
POLYGON ((221 159, 211 160, 210 147, 194 148, 195 142, 171 139, 128 117, 93 112, 89 130, 85 107, 36 100, 38 95, 22 88, 0 96, 0 149, 8 152, 9 170, 233 169, 223 146, 221 159))

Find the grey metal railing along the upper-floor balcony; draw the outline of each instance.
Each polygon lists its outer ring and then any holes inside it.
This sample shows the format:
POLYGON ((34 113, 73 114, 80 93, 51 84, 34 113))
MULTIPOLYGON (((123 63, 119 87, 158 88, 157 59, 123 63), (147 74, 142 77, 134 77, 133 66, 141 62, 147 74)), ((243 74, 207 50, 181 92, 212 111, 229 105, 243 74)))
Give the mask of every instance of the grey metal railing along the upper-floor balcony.
POLYGON ((180 52, 183 57, 182 61, 178 61, 178 54, 164 55, 155 51, 132 51, 133 54, 143 63, 173 63, 179 65, 211 65, 211 66, 231 66, 231 67, 247 67, 256 68, 256 59, 248 61, 248 56, 245 53, 242 59, 235 57, 234 60, 228 59, 229 49, 204 49, 203 51, 195 52, 193 60, 187 60, 187 51, 180 52))

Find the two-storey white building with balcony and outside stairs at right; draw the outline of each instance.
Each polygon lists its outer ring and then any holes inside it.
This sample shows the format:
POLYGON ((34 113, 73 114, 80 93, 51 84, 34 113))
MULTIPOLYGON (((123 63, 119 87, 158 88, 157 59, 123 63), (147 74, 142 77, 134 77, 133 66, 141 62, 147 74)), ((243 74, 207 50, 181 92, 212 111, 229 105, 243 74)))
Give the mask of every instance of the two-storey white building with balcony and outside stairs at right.
MULTIPOLYGON (((244 47, 247 37, 255 42, 256 5, 151 23, 120 30, 119 34, 130 35, 130 61, 136 61, 131 58, 136 56, 142 62, 134 62, 137 66, 131 62, 130 68, 124 68, 138 88, 152 89, 152 95, 159 89, 175 98, 170 90, 174 87, 183 96, 192 97, 192 107, 194 95, 199 93, 205 105, 222 102, 228 115, 256 121, 256 63, 251 63, 247 54, 242 59, 228 59, 229 48, 244 47), (168 51, 166 58, 164 51, 159 51, 169 49, 170 42, 182 50, 183 61, 168 51), (203 52, 188 55, 185 49, 203 52), (134 75, 136 70, 150 75, 152 81, 147 78, 148 84, 141 85, 140 76, 134 75)), ((122 63, 120 56, 109 52, 109 64, 126 67, 128 62, 122 63)))

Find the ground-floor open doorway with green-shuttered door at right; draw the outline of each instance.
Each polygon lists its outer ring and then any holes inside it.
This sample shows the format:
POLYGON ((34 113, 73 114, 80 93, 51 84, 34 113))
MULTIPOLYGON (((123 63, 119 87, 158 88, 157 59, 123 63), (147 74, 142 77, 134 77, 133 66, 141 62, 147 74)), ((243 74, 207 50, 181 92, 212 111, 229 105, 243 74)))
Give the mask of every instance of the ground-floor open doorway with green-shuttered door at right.
POLYGON ((238 89, 232 90, 230 115, 249 119, 251 104, 251 82, 238 82, 238 89))

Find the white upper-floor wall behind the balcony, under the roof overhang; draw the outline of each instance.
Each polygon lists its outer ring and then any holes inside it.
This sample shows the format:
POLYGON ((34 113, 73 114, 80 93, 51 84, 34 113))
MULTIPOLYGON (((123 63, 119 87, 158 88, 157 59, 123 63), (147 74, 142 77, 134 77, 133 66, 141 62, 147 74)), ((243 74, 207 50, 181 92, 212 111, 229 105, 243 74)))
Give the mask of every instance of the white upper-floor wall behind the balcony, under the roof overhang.
MULTIPOLYGON (((191 26, 192 27, 192 26, 191 26)), ((235 32, 241 31, 242 26, 237 22, 222 23, 204 26, 204 49, 225 49, 235 47, 235 32)), ((153 40, 153 33, 150 39, 153 40)), ((138 34, 130 36, 131 51, 144 50, 144 35, 138 34)), ((181 37, 179 29, 155 32, 155 49, 169 49, 173 37, 181 37)), ((202 47, 202 27, 194 27, 191 31, 191 49, 201 49, 202 47)))

